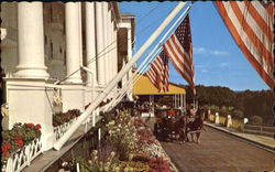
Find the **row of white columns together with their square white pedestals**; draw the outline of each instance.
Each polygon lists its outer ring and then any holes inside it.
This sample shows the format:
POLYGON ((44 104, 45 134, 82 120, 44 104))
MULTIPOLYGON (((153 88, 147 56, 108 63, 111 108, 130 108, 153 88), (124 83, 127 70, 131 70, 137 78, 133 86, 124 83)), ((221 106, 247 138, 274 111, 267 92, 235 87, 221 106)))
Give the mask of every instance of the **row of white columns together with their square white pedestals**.
MULTIPOLYGON (((92 74, 88 73, 88 85, 98 82, 101 86, 106 86, 118 73, 117 44, 112 44, 116 49, 108 55, 100 56, 99 53, 117 40, 114 21, 111 21, 108 2, 85 2, 85 6, 87 64, 92 72, 92 74)), ((85 96, 84 88, 80 86, 82 79, 79 71, 82 65, 81 25, 81 2, 66 2, 66 67, 69 77, 66 80, 68 85, 63 86, 63 110, 65 111, 69 108, 84 108, 85 96)), ((52 89, 45 84, 50 74, 45 66, 44 51, 43 2, 18 2, 19 65, 14 74, 15 78, 7 82, 7 85, 12 87, 12 92, 8 92, 9 127, 15 122, 41 123, 43 150, 47 150, 53 146, 54 130, 53 111, 50 108, 52 101, 48 99, 52 89), (22 89, 20 86, 22 83, 24 85, 30 83, 31 86, 25 85, 22 89), (25 92, 33 90, 32 86, 37 86, 35 94, 25 92), (30 107, 30 105, 33 106, 30 107)))

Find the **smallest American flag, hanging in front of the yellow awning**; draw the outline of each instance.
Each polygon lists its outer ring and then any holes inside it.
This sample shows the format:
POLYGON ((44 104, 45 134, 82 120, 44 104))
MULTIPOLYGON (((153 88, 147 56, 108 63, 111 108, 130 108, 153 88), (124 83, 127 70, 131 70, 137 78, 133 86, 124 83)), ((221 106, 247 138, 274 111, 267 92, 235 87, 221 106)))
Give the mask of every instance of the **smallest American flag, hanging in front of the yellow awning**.
POLYGON ((168 57, 164 51, 162 51, 151 63, 151 68, 146 72, 146 75, 158 92, 162 90, 161 84, 163 85, 164 93, 169 90, 168 57))

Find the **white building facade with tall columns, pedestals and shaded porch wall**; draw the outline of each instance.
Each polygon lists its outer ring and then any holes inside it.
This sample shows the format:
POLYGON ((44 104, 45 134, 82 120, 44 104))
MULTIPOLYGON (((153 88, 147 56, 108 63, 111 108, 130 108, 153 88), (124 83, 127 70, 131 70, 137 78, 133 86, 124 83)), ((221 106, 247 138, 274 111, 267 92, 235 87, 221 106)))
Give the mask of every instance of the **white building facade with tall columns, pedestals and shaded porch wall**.
POLYGON ((121 14, 118 2, 3 2, 1 19, 7 128, 40 123, 48 150, 54 97, 62 111, 84 111, 132 57, 134 17, 121 14))

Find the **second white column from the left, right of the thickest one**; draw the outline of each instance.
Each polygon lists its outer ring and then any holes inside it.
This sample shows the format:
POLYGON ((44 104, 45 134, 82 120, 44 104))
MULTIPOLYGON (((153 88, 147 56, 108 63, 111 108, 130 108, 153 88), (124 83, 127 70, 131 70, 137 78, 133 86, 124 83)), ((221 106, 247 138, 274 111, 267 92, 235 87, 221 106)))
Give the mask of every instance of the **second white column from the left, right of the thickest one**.
POLYGON ((68 83, 82 83, 79 66, 81 62, 80 46, 80 19, 79 19, 79 2, 65 3, 65 26, 66 26, 66 56, 67 56, 67 75, 70 75, 66 80, 68 83), (76 72, 77 71, 77 72, 76 72), (74 74, 73 74, 74 73, 74 74), (73 74, 73 75, 72 75, 73 74))

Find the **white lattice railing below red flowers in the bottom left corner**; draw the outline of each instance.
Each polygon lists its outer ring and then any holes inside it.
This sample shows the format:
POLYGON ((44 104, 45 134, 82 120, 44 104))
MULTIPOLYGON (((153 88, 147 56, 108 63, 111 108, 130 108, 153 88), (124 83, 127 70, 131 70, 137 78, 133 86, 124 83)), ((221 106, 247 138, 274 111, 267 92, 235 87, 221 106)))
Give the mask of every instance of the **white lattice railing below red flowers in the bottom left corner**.
POLYGON ((42 153, 42 142, 38 138, 12 153, 7 163, 2 164, 2 172, 19 172, 30 165, 40 153, 42 153))

